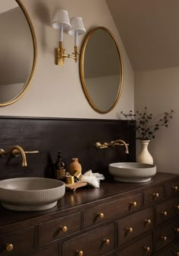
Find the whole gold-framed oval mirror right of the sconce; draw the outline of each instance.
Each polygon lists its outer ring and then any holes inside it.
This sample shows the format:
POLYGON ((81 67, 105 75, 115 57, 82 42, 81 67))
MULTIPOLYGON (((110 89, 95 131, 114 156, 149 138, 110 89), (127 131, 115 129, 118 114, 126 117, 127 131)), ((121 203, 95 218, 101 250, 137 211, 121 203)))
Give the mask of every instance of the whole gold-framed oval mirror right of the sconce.
POLYGON ((96 27, 87 34, 80 55, 80 78, 89 104, 101 114, 118 103, 123 65, 118 43, 111 31, 96 27))

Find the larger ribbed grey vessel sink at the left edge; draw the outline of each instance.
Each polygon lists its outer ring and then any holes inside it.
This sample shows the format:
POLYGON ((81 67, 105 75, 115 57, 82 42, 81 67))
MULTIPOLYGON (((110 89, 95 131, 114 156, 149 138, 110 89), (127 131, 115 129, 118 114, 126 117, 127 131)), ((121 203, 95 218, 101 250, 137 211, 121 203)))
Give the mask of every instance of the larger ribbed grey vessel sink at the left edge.
POLYGON ((47 210, 54 207, 64 193, 64 182, 50 178, 12 178, 0 181, 0 200, 2 206, 9 210, 47 210))

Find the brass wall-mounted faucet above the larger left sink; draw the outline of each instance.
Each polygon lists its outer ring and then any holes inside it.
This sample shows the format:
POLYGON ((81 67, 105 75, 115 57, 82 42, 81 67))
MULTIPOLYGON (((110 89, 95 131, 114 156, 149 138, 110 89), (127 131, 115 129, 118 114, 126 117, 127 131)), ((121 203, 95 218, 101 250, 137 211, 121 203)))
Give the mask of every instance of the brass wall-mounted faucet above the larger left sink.
POLYGON ((7 155, 8 153, 11 153, 11 155, 14 155, 14 156, 21 155, 21 157, 22 157, 22 166, 27 166, 26 154, 39 153, 39 151, 36 150, 36 151, 27 151, 27 152, 25 152, 24 149, 22 149, 20 146, 11 146, 11 148, 9 148, 7 150, 0 149, 0 156, 7 155))

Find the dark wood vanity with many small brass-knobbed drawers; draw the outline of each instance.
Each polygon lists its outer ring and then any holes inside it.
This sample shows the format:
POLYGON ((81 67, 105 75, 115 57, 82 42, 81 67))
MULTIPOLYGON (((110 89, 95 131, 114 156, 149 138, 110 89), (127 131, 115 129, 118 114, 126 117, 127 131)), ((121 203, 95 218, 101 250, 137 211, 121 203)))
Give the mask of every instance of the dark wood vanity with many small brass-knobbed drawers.
POLYGON ((178 213, 179 175, 79 188, 51 210, 1 208, 0 255, 178 255, 178 213))

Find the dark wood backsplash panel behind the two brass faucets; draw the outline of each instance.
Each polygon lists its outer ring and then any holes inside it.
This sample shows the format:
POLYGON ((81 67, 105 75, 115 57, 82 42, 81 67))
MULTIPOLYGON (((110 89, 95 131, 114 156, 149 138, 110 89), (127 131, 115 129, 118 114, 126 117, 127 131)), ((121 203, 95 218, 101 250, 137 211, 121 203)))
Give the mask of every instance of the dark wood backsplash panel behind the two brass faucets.
POLYGON ((79 158, 83 172, 99 172, 110 179, 108 164, 135 161, 135 131, 127 120, 58 119, 31 117, 0 117, 0 148, 19 145, 25 151, 39 150, 27 155, 27 167, 21 158, 5 155, 0 158, 0 179, 17 177, 54 177, 58 149, 66 165, 79 158), (95 142, 124 139, 129 143, 129 155, 124 146, 96 149, 95 142))

